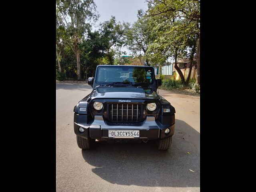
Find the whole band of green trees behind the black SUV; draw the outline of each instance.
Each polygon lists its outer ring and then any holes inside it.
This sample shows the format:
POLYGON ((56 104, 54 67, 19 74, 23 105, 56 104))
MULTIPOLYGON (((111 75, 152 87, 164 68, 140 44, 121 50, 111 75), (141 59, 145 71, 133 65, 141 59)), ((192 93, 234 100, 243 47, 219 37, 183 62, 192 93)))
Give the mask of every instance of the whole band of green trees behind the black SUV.
POLYGON ((92 31, 99 18, 93 0, 56 0, 56 70, 66 78, 87 79, 99 64, 129 63, 122 59, 126 47, 142 65, 162 66, 172 58, 183 83, 189 77, 184 78, 177 60, 189 58, 189 76, 196 65, 200 83, 200 1, 146 2, 148 9, 138 10, 134 23, 111 16, 92 31))

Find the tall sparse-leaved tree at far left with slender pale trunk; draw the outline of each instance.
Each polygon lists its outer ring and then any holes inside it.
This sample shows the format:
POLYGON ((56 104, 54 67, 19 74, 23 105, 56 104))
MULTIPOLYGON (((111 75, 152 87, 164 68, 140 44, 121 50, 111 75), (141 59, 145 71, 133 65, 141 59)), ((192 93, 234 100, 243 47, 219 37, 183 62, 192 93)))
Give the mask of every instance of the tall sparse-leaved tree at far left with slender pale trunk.
POLYGON ((63 41, 70 46, 76 57, 77 79, 81 79, 80 43, 90 29, 91 20, 96 21, 99 15, 93 0, 56 0, 56 8, 61 16, 65 35, 63 41))

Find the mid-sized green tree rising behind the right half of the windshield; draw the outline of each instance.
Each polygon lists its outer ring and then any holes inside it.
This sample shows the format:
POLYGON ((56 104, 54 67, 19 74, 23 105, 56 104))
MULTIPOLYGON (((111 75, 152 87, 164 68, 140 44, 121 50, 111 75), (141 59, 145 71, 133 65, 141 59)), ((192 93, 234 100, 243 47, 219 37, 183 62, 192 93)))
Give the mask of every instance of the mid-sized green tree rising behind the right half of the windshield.
POLYGON ((140 59, 146 60, 146 64, 150 66, 148 60, 148 46, 153 41, 153 36, 148 25, 148 17, 142 10, 138 10, 138 20, 130 26, 126 23, 126 46, 132 54, 140 59))

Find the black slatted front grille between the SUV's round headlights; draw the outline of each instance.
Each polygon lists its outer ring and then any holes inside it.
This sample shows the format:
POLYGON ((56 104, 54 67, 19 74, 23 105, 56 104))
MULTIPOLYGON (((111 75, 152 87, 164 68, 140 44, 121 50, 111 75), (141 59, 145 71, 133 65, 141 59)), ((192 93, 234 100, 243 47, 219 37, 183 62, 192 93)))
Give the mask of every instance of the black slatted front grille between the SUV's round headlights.
POLYGON ((138 122, 142 120, 142 104, 108 104, 112 122, 138 122))

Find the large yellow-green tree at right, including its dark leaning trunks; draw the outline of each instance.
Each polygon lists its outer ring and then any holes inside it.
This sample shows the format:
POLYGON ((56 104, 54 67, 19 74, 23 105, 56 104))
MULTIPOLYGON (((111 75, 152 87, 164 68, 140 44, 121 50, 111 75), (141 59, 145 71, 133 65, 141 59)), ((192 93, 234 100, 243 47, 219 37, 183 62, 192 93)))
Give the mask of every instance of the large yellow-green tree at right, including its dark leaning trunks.
MULTIPOLYGON (((175 60, 174 67, 182 82, 185 83, 184 76, 177 64, 177 58, 186 50, 190 36, 197 37, 196 58, 198 74, 200 74, 200 1, 147 0, 147 2, 148 15, 154 26, 152 32, 157 36, 156 42, 166 45, 160 45, 160 47, 171 49, 170 53, 175 60)), ((200 83, 199 77, 198 83, 200 83)))

